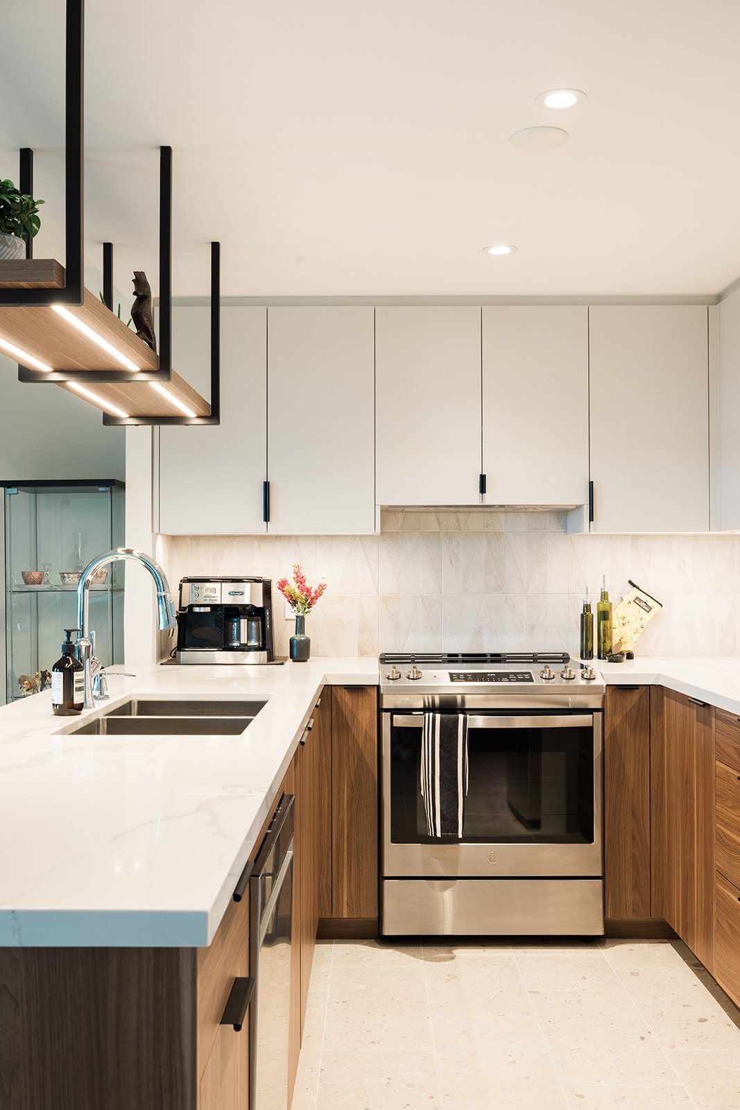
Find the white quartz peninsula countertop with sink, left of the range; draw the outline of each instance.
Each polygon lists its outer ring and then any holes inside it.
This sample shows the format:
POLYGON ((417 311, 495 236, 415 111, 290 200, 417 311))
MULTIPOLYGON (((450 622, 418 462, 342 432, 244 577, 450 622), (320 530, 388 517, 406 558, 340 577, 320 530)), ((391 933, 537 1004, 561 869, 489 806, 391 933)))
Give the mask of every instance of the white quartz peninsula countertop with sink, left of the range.
POLYGON ((111 698, 55 717, 0 709, 0 946, 209 945, 325 684, 377 659, 128 667, 111 698), (136 695, 267 699, 241 736, 71 736, 136 695))

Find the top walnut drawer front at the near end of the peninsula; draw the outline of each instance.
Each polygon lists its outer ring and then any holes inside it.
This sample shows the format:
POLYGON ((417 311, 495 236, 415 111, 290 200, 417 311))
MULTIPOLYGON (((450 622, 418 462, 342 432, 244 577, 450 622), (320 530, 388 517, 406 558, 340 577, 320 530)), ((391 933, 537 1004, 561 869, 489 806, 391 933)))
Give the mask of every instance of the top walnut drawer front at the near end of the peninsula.
MULTIPOLYGON (((250 898, 231 901, 207 948, 197 951, 197 1078, 209 1062, 226 1000, 239 976, 249 975, 250 898), (245 970, 246 968, 246 970, 245 970)), ((246 1041, 246 1032, 239 1035, 246 1041)))

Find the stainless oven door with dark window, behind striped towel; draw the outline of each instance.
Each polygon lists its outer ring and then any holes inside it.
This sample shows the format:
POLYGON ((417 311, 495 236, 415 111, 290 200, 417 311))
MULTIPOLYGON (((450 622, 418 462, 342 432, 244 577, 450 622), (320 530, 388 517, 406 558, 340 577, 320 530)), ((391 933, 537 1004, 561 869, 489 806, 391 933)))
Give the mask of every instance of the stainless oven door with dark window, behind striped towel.
POLYGON ((383 714, 384 878, 602 874, 600 713, 468 715, 460 840, 427 834, 423 723, 383 714))

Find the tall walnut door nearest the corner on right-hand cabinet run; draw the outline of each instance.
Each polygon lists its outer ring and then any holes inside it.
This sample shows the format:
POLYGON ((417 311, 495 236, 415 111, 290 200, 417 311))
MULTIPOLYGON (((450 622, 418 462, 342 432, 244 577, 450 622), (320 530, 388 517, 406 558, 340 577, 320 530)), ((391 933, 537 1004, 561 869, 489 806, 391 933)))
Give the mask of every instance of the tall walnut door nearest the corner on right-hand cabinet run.
POLYGON ((714 709, 666 690, 663 728, 663 916, 712 971, 714 709))

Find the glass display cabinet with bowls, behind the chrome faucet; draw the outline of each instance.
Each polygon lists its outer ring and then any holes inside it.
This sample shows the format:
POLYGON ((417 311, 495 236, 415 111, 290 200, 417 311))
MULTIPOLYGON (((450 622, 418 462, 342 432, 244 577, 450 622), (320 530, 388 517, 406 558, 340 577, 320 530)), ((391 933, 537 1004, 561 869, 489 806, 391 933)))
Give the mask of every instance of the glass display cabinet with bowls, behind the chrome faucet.
MULTIPOLYGON (((19 482, 4 486, 6 702, 51 684, 64 628, 77 625, 77 588, 95 555, 121 547, 123 482, 19 482)), ((90 627, 103 666, 123 660, 124 563, 90 587, 90 627)), ((1 692, 0 692, 1 693, 1 692)))

